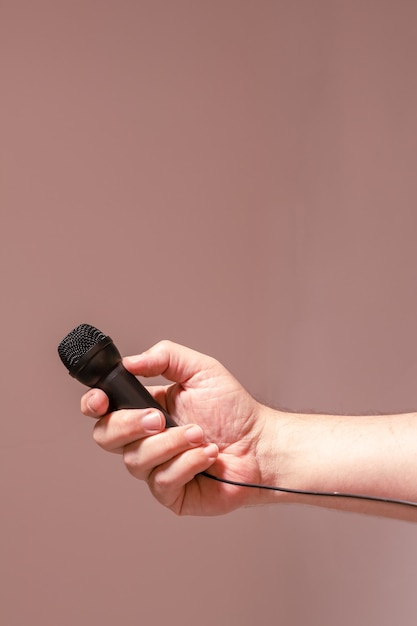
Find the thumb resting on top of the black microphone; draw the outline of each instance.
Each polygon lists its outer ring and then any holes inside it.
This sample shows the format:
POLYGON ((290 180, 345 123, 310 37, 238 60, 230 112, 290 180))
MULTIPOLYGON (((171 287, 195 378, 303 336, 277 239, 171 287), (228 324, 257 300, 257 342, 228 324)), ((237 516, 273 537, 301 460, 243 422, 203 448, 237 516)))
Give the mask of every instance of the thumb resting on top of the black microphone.
POLYGON ((205 354, 172 341, 160 341, 152 348, 135 356, 125 357, 123 364, 132 374, 162 375, 168 380, 184 383, 197 372, 212 368, 216 361, 205 354))

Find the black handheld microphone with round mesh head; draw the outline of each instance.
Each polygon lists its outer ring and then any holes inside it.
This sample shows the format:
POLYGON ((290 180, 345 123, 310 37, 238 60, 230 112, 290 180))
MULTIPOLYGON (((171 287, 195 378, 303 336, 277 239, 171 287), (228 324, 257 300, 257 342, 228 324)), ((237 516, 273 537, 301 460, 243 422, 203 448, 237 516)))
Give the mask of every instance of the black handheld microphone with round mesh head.
POLYGON ((112 339, 94 326, 80 324, 74 328, 59 344, 58 353, 73 378, 107 394, 109 412, 153 407, 164 414, 167 427, 176 426, 149 391, 125 369, 112 339))

